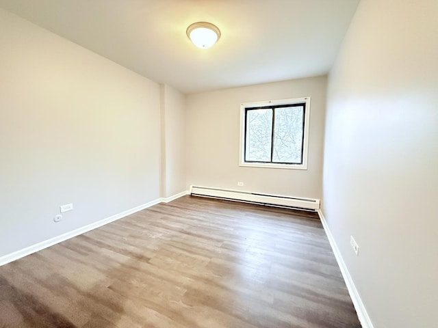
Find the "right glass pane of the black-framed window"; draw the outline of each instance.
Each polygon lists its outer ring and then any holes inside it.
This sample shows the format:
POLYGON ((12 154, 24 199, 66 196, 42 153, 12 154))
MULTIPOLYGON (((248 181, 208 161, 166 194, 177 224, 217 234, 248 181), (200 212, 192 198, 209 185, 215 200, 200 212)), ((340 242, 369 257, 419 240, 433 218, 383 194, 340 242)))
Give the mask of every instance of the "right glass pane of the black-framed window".
POLYGON ((303 122, 303 106, 275 109, 272 161, 302 163, 303 122))

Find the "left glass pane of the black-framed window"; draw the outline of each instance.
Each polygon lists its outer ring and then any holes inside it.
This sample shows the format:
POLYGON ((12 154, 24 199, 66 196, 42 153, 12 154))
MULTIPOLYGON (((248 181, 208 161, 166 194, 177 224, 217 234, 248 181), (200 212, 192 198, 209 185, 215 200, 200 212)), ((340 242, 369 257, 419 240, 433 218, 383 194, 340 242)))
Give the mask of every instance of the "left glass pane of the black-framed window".
POLYGON ((245 161, 271 161, 272 109, 246 111, 245 161))

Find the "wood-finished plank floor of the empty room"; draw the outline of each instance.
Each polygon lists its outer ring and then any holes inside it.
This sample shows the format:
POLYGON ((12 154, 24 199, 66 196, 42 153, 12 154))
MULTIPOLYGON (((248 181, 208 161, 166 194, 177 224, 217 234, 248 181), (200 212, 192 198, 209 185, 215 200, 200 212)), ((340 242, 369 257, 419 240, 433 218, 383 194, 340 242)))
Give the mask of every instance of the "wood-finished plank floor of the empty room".
POLYGON ((319 219, 181 197, 0 267, 0 327, 361 327, 319 219))

